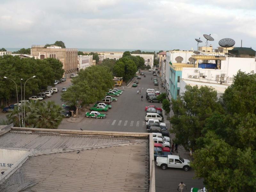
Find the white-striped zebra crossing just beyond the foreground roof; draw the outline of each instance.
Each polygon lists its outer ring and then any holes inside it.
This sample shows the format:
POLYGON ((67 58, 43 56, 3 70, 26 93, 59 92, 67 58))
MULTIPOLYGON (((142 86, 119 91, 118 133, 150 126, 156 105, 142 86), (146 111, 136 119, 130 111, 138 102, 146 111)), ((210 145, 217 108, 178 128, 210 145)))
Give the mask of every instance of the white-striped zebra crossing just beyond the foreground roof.
POLYGON ((126 127, 145 127, 146 122, 143 121, 127 121, 127 120, 107 120, 107 119, 94 119, 94 118, 86 118, 85 122, 88 124, 107 124, 112 126, 126 126, 126 127))

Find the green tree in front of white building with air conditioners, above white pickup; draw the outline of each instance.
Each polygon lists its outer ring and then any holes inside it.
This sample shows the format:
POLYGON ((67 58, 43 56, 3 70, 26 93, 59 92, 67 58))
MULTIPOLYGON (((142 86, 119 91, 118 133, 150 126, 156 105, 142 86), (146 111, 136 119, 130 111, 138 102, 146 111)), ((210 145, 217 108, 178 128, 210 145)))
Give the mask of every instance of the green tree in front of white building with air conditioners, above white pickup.
POLYGON ((176 135, 176 141, 185 149, 197 149, 201 146, 196 140, 202 137, 205 120, 212 116, 214 111, 221 110, 218 103, 217 92, 208 86, 187 85, 186 91, 177 98, 172 99, 171 117, 172 132, 176 135))

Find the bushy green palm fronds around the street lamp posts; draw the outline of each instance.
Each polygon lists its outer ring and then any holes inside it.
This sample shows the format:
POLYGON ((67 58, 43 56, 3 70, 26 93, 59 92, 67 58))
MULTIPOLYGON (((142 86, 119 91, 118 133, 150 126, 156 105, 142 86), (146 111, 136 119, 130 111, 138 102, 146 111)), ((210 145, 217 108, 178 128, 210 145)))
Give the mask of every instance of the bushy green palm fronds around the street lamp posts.
MULTIPOLYGON (((32 101, 25 104, 25 126, 42 129, 57 129, 61 123, 62 108, 54 101, 32 101)), ((8 121, 13 122, 14 126, 19 126, 19 111, 15 107, 7 115, 8 121)), ((21 114, 20 114, 21 116, 21 114)))

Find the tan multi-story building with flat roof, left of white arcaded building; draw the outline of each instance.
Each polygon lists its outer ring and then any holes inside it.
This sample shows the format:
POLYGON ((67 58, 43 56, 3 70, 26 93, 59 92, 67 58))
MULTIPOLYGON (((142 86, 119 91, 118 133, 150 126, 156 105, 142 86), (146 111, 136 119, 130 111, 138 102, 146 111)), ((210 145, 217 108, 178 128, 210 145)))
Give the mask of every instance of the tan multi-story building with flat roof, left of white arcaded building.
POLYGON ((56 58, 63 64, 65 73, 63 76, 69 78, 71 73, 77 71, 77 49, 61 48, 55 45, 44 48, 44 45, 32 45, 31 56, 36 59, 56 58))

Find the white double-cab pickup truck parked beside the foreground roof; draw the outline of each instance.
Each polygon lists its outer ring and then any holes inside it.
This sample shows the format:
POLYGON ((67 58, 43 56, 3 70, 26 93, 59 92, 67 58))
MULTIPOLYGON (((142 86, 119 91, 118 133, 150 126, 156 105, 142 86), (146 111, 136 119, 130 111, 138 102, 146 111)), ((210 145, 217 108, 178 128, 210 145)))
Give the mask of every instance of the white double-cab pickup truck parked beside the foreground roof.
POLYGON ((188 159, 182 159, 177 155, 168 155, 168 157, 156 157, 156 165, 160 166, 163 170, 167 167, 182 168, 184 171, 190 169, 190 161, 188 159))

